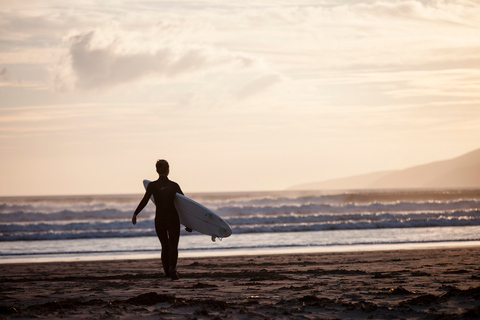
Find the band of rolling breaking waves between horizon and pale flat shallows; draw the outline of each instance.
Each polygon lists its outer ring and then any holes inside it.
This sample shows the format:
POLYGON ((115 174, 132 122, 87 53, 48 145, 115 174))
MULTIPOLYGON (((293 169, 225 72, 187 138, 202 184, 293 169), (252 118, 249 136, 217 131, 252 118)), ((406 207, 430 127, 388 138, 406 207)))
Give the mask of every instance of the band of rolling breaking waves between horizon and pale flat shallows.
MULTIPOLYGON (((155 207, 140 196, 0 199, 0 241, 155 235, 155 207)), ((479 191, 206 194, 198 200, 234 233, 480 225, 479 191)))

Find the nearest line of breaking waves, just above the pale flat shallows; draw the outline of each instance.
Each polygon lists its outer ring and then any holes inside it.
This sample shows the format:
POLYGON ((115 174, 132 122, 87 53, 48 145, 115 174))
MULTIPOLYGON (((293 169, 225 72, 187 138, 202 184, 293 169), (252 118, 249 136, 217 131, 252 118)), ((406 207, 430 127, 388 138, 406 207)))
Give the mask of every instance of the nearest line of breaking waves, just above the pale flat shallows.
MULTIPOLYGON (((309 214, 231 217, 227 222, 234 233, 418 228, 480 225, 480 210, 422 213, 309 214)), ((152 219, 142 217, 136 226, 128 219, 80 221, 59 224, 3 223, 0 241, 134 237, 154 235, 152 219)))

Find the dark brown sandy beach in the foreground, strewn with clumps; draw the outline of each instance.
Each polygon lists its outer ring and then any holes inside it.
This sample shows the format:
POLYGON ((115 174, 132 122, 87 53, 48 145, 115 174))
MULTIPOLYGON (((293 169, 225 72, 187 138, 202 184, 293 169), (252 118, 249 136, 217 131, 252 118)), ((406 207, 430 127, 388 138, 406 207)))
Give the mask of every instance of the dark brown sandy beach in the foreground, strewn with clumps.
POLYGON ((478 319, 480 247, 2 264, 6 319, 478 319))

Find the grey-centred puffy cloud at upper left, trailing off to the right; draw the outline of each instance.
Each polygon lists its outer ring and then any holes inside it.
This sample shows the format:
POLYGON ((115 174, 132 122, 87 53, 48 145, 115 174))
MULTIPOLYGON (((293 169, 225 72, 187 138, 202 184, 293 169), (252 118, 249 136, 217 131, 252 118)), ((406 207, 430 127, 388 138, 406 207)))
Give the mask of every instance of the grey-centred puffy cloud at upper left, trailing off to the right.
MULTIPOLYGON (((112 87, 150 75, 176 77, 218 67, 250 68, 254 57, 211 46, 171 45, 141 52, 125 50, 121 38, 99 45, 94 31, 72 38, 67 66, 77 89, 112 87)), ((100 40, 100 41, 99 41, 100 40)), ((63 71, 64 74, 68 72, 63 71)), ((66 81, 58 77, 59 81, 66 81)))

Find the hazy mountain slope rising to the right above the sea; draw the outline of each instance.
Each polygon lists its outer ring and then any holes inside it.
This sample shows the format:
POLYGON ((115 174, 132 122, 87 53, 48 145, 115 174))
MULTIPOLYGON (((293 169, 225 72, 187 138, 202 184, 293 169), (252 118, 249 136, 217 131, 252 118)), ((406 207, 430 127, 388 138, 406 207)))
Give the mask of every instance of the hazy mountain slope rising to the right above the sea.
POLYGON ((480 149, 460 157, 403 170, 378 171, 306 183, 290 190, 315 189, 480 188, 480 149))

